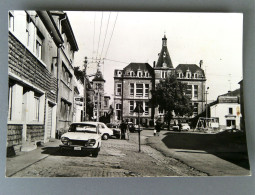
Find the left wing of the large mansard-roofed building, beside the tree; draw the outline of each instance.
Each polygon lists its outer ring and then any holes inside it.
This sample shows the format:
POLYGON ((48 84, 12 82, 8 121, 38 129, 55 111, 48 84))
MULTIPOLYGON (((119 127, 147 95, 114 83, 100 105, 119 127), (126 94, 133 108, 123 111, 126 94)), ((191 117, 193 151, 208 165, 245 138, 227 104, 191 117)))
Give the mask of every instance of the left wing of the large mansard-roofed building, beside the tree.
POLYGON ((153 112, 149 108, 150 91, 154 87, 154 70, 148 63, 130 63, 123 70, 114 72, 115 121, 138 123, 135 107, 140 104, 144 110, 140 123, 149 124, 153 112))

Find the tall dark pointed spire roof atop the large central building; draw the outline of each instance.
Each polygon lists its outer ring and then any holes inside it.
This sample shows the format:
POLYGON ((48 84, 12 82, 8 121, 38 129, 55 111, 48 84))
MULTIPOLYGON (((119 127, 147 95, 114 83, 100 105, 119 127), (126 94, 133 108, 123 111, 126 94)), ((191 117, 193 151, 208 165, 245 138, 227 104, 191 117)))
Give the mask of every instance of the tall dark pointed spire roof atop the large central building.
POLYGON ((167 41, 167 38, 166 38, 166 36, 164 36, 162 38, 162 49, 161 49, 161 52, 159 53, 158 61, 157 61, 157 64, 156 64, 156 68, 164 67, 163 66, 164 63, 166 64, 165 65, 166 68, 174 68, 172 60, 171 60, 171 57, 170 57, 168 49, 167 49, 166 41, 167 41))

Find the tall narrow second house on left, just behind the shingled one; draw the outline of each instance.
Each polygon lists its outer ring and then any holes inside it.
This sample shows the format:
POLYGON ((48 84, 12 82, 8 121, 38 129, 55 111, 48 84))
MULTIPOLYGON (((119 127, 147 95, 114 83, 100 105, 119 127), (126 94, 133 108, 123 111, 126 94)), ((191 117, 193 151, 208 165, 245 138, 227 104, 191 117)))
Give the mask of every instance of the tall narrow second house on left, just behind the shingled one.
POLYGON ((57 61, 52 65, 52 72, 57 77, 57 132, 67 131, 73 120, 74 98, 74 53, 78 45, 69 22, 68 16, 63 11, 50 11, 55 26, 61 37, 62 44, 57 50, 57 61))

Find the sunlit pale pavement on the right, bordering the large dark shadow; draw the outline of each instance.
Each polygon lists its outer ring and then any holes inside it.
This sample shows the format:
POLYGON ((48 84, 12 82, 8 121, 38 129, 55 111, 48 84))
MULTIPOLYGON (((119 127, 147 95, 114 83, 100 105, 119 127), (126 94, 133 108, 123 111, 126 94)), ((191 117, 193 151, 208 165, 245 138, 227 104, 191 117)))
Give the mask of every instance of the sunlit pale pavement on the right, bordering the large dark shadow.
MULTIPOLYGON (((243 160, 243 156, 238 152, 222 152, 214 155, 204 150, 176 149, 168 148, 163 139, 165 135, 159 137, 149 137, 147 144, 162 152, 167 157, 178 159, 190 167, 207 173, 209 176, 245 176, 250 175, 250 171, 237 164, 220 158, 220 155, 237 160, 243 160)), ((216 153, 215 153, 216 154, 216 153)))

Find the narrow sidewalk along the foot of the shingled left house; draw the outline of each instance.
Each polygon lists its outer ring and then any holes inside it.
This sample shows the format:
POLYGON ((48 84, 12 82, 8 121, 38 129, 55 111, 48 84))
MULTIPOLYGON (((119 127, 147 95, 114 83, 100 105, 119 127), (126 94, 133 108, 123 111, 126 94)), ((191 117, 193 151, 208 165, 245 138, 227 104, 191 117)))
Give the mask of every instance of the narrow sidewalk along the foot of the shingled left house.
POLYGON ((45 143, 43 146, 38 147, 37 149, 30 152, 20 152, 17 156, 6 158, 6 177, 11 177, 18 171, 29 167, 30 165, 47 158, 50 154, 43 154, 43 148, 45 147, 56 147, 56 150, 53 150, 52 153, 56 152, 60 140, 53 139, 50 142, 45 143))

